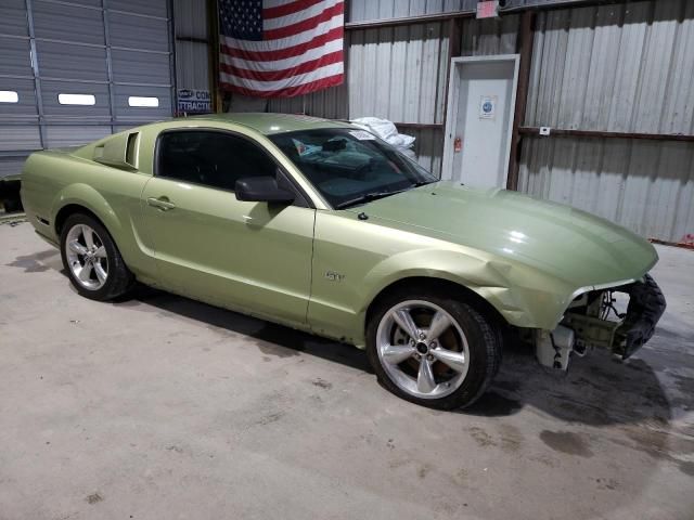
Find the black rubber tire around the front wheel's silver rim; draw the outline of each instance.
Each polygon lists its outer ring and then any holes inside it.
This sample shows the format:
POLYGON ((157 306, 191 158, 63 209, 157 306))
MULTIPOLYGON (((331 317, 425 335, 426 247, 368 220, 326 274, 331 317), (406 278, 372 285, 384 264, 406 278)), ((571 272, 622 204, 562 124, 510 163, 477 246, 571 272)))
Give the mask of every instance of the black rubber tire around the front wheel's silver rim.
POLYGON ((390 392, 422 406, 437 410, 467 407, 479 399, 499 372, 502 354, 501 330, 494 322, 470 303, 447 295, 444 290, 430 290, 416 286, 399 288, 376 302, 367 325, 367 355, 380 382, 390 392), (422 399, 402 390, 382 365, 376 351, 376 335, 386 313, 400 302, 423 300, 444 309, 458 322, 467 339, 470 350, 468 368, 461 386, 442 398, 422 399))

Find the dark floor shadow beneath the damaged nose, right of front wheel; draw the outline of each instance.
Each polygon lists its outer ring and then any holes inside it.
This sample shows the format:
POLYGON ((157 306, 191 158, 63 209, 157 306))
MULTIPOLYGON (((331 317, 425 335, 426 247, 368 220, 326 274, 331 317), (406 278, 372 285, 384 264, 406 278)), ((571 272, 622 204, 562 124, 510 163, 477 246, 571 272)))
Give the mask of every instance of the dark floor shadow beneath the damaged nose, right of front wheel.
POLYGON ((609 352, 594 350, 582 359, 574 358, 564 373, 539 365, 525 344, 505 346, 490 389, 462 413, 507 416, 525 406, 590 426, 644 420, 666 426, 672 418, 665 389, 642 359, 622 362, 609 352))

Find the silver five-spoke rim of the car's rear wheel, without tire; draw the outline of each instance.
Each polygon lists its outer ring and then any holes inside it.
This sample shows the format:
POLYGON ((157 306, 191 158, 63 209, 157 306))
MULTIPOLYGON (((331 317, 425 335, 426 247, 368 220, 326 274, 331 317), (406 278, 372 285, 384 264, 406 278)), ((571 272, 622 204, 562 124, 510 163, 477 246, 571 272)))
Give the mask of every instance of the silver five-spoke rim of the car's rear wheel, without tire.
POLYGON ((87 224, 75 224, 67 233, 65 256, 77 283, 89 290, 101 289, 108 278, 108 258, 101 237, 87 224))

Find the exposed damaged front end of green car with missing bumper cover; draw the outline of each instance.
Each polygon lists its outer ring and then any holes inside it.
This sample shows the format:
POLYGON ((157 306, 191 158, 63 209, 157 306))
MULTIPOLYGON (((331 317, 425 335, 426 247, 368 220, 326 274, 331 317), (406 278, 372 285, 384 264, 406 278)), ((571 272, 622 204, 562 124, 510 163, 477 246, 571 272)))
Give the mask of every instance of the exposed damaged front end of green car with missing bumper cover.
POLYGON ((596 347, 626 360, 651 339, 665 307, 648 274, 627 285, 586 291, 571 301, 556 328, 537 330, 538 361, 566 370, 571 353, 582 356, 596 347), (626 299, 626 312, 619 312, 617 306, 626 299))

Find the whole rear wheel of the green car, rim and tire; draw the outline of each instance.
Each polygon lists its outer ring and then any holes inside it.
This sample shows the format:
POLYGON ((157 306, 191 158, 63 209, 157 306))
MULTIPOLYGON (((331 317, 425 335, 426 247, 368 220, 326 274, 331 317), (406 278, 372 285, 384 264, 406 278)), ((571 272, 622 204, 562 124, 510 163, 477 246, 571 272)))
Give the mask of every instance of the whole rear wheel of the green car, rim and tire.
POLYGON ((97 219, 82 213, 67 218, 61 233, 61 256, 73 286, 92 300, 123 296, 132 286, 113 238, 97 219))

